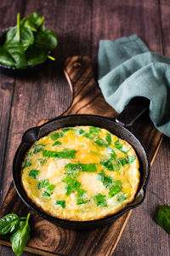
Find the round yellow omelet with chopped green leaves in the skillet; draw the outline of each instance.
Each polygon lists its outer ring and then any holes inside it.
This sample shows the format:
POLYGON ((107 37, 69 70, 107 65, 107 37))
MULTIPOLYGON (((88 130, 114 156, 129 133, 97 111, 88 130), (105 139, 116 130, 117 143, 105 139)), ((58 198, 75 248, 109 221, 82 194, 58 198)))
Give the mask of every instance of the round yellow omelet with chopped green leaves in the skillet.
POLYGON ((94 126, 65 127, 40 138, 21 164, 26 195, 56 218, 88 221, 120 211, 139 186, 133 147, 94 126))

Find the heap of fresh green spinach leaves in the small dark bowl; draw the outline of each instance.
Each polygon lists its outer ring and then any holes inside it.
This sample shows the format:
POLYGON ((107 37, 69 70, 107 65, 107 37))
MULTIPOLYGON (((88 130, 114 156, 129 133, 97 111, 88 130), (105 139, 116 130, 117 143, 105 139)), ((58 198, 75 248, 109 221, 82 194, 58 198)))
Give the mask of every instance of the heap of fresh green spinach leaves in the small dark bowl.
MULTIPOLYGON (((5 43, 0 47, 0 63, 18 69, 37 65, 46 61, 48 52, 57 46, 57 35, 45 30, 44 17, 36 12, 20 20, 17 14, 17 26, 10 28, 5 43)), ((54 60, 52 56, 50 59, 54 60)))

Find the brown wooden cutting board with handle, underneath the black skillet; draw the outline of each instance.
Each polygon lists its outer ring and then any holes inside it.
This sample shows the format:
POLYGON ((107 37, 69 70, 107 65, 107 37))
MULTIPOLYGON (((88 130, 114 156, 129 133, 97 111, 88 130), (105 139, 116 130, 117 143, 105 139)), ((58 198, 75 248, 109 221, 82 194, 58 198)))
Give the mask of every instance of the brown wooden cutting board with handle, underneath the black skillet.
MULTIPOLYGON (((116 111, 105 102, 95 82, 91 62, 87 56, 69 57, 65 61, 65 77, 70 84, 73 100, 71 107, 63 115, 90 113, 107 117, 116 116, 116 111)), ((47 120, 42 120, 38 125, 45 121, 47 120)), ((152 164, 161 145, 162 134, 154 128, 147 113, 136 122, 133 130, 148 150, 152 164)), ((25 216, 29 212, 28 207, 17 195, 13 183, 3 201, 0 217, 10 212, 16 212, 20 216, 25 216)), ((31 212, 31 240, 25 250, 46 256, 111 255, 131 212, 132 210, 126 212, 113 224, 88 231, 65 230, 31 212)), ((6 236, 0 236, 0 244, 11 247, 6 236)))

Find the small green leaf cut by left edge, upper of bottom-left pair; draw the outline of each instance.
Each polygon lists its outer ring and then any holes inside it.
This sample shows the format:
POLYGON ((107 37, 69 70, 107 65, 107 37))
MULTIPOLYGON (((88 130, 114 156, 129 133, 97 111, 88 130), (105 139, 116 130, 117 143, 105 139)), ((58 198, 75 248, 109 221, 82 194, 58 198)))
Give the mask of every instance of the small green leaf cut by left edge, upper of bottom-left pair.
POLYGON ((0 235, 12 233, 16 226, 18 226, 19 219, 20 218, 14 213, 10 213, 3 216, 3 218, 0 218, 0 235))

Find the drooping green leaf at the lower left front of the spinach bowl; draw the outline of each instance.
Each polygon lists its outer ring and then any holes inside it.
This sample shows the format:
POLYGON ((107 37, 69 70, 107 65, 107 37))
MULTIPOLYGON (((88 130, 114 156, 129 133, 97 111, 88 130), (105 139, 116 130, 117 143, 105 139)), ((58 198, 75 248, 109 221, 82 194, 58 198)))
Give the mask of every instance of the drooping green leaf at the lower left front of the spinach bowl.
POLYGON ((27 67, 26 54, 23 46, 17 41, 8 41, 4 44, 4 48, 8 50, 8 53, 15 61, 15 67, 23 69, 27 67))

